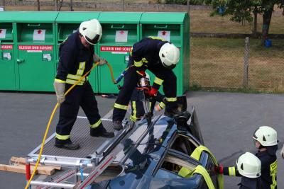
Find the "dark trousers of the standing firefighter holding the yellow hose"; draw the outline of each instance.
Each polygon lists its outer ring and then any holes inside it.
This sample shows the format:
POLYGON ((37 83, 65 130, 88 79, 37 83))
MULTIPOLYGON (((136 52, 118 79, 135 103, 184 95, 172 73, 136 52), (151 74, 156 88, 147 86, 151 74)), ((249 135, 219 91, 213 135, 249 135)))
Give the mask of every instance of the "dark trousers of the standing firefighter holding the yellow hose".
MULTIPOLYGON (((66 84, 67 91, 70 84, 66 84)), ((94 96, 94 91, 89 81, 82 86, 75 86, 70 93, 65 97, 65 101, 60 105, 60 114, 56 133, 60 135, 70 135, 72 127, 77 119, 79 108, 84 110, 89 124, 93 125, 101 118, 97 108, 97 101, 94 96)))

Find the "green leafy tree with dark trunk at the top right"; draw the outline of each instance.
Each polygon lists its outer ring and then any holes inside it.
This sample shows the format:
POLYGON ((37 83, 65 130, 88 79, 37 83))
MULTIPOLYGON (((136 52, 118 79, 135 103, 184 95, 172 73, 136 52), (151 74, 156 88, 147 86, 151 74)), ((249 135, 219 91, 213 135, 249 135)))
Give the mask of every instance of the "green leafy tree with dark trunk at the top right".
POLYGON ((254 15, 255 28, 257 14, 263 16, 262 38, 265 40, 268 36, 271 16, 274 6, 284 7, 284 0, 201 0, 204 4, 211 4, 214 8, 212 16, 217 14, 231 15, 231 21, 253 21, 254 15))

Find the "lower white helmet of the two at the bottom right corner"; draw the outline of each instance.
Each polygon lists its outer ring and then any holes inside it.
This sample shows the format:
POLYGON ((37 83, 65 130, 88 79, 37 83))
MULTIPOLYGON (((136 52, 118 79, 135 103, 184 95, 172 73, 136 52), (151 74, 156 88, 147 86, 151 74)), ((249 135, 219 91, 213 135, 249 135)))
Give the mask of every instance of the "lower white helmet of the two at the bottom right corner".
POLYGON ((261 176, 261 160, 250 152, 239 156, 239 159, 236 161, 236 166, 242 176, 248 178, 258 178, 261 176))

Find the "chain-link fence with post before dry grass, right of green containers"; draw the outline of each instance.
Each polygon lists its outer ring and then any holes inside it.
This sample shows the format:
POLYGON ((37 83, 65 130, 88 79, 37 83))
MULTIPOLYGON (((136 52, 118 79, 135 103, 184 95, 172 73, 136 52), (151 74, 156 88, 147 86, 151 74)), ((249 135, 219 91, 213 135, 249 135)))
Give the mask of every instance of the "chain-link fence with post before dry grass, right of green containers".
POLYGON ((284 91, 283 42, 250 39, 246 56, 245 39, 191 38, 190 86, 284 91))

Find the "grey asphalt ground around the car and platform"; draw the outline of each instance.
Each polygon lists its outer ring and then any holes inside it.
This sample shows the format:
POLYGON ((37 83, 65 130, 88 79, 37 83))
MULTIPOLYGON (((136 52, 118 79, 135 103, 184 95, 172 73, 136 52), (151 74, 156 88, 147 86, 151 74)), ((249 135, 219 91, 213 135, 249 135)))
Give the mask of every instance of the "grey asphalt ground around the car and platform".
MULTIPOLYGON (((96 98, 104 117, 114 99, 96 98)), ((25 157, 38 147, 55 101, 53 93, 0 92, 0 164, 9 164, 11 156, 25 157)), ((235 165, 245 151, 256 152, 251 136, 258 126, 273 126, 278 131, 279 149, 283 145, 283 95, 190 92, 187 103, 196 108, 205 146, 224 166, 235 165)), ((79 115, 84 116, 82 110, 79 115)), ((57 121, 58 112, 48 135, 55 132, 57 121)), ((284 159, 279 152, 278 188, 284 188, 284 159)), ((225 176, 224 188, 239 188, 239 181, 240 178, 225 176)), ((23 188, 24 185, 24 174, 0 171, 0 188, 23 188)))

